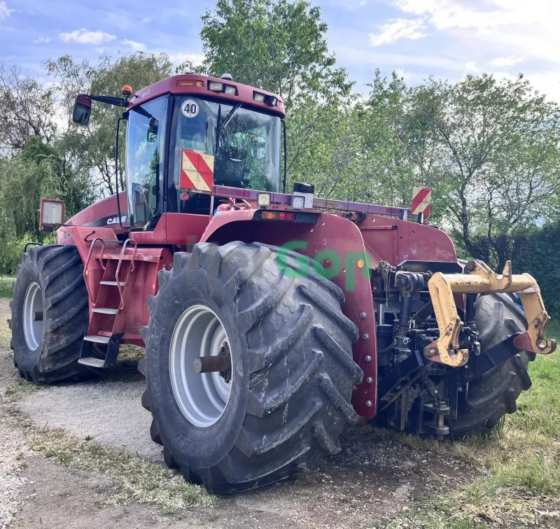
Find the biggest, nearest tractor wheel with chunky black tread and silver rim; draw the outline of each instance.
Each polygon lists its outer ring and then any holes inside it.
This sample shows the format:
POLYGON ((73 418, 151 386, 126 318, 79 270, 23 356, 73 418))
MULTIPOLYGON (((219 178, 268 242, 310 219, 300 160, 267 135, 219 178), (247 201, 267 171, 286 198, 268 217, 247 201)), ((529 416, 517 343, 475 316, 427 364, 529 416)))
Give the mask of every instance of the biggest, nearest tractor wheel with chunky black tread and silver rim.
POLYGON ((148 298, 142 402, 151 435, 170 467, 212 493, 312 470, 356 419, 350 400, 363 373, 344 294, 309 270, 313 261, 278 258, 262 244, 197 244, 174 255, 148 298), (193 369, 199 356, 228 353, 230 372, 193 369))

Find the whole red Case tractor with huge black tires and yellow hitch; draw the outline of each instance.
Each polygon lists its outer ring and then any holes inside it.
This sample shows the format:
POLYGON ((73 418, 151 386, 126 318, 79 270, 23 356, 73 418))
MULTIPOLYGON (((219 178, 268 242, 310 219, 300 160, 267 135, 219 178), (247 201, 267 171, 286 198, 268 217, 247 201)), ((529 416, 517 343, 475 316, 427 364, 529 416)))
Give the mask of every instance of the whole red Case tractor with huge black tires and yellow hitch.
POLYGON ((280 97, 182 75, 79 95, 74 121, 92 101, 124 108, 127 189, 66 223, 43 204, 61 226, 22 255, 14 362, 31 381, 83 379, 145 346, 151 436, 186 479, 281 481, 360 416, 440 438, 492 428, 554 351, 538 285, 509 262, 458 262, 404 209, 286 194, 280 97))

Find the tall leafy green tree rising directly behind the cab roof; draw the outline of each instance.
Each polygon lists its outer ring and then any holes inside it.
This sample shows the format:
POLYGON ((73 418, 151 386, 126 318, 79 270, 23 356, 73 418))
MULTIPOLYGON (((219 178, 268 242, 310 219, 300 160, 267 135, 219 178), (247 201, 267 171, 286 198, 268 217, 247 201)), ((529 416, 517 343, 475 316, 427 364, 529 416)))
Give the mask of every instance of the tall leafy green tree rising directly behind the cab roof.
POLYGON ((279 94, 287 111, 292 181, 313 180, 325 164, 321 139, 349 96, 346 69, 337 68, 325 40, 321 9, 304 0, 218 0, 202 17, 205 59, 200 71, 279 94))

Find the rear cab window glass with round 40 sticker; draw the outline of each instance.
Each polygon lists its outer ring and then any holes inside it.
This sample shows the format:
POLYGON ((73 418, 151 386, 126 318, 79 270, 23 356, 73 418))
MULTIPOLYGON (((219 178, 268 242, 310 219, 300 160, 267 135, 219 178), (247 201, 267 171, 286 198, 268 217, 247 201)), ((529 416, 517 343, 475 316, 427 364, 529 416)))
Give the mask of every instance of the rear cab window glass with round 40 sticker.
POLYGON ((179 188, 181 149, 214 156, 214 184, 280 190, 280 118, 196 97, 176 97, 171 177, 179 188))

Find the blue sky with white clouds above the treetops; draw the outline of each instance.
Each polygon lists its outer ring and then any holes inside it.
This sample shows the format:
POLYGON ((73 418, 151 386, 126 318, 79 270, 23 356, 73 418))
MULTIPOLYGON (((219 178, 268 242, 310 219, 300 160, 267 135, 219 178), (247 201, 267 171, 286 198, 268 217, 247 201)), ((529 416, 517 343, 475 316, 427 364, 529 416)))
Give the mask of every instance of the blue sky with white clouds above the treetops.
MULTIPOLYGON (((409 83, 520 71, 560 101, 560 3, 553 0, 321 0, 330 50, 356 91, 379 67, 409 83)), ((215 0, 0 0, 0 60, 44 75, 45 60, 134 50, 202 58, 198 34, 215 0)), ((232 72, 235 75, 235 72, 232 72)))

